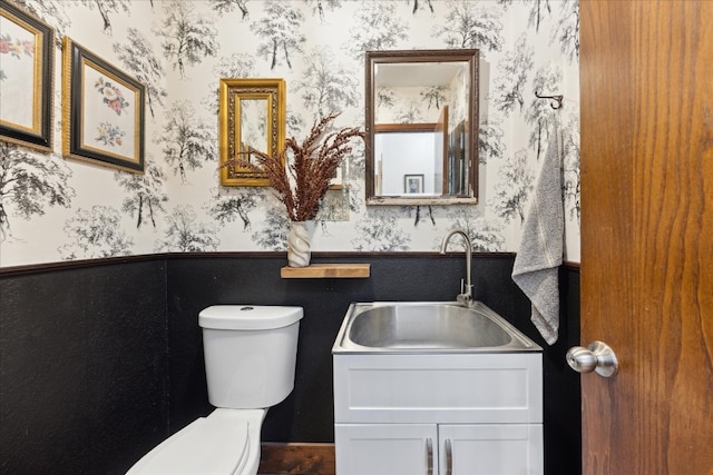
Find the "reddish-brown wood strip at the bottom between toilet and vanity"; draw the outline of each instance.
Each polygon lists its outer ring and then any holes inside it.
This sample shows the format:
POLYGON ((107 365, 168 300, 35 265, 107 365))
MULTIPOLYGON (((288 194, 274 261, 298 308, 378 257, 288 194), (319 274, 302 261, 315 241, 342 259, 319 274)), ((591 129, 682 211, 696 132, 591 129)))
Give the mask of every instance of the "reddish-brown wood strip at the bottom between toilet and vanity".
POLYGON ((334 444, 262 444, 258 475, 336 475, 334 444))

